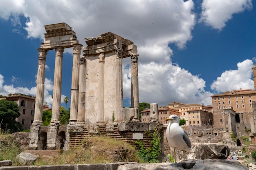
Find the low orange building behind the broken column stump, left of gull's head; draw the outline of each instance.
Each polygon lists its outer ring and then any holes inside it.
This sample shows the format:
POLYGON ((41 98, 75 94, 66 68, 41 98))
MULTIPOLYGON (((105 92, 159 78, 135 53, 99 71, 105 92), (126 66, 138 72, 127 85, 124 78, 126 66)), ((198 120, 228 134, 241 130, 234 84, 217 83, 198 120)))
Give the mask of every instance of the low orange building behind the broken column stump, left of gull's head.
MULTIPOLYGON (((168 124, 165 119, 170 115, 180 116, 180 112, 178 112, 178 110, 168 107, 158 108, 158 119, 160 123, 168 124)), ((141 112, 141 122, 150 122, 150 109, 145 109, 141 112)))

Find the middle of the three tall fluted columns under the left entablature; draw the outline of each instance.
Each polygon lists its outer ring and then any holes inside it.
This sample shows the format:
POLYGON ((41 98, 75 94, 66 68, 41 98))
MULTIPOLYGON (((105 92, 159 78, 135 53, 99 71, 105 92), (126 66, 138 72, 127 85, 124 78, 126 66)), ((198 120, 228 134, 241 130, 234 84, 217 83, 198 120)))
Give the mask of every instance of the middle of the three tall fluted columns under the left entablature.
POLYGON ((52 103, 52 119, 51 123, 59 124, 61 110, 61 84, 62 84, 62 60, 63 47, 56 46, 55 52, 55 68, 54 68, 54 84, 53 84, 53 103, 52 103))

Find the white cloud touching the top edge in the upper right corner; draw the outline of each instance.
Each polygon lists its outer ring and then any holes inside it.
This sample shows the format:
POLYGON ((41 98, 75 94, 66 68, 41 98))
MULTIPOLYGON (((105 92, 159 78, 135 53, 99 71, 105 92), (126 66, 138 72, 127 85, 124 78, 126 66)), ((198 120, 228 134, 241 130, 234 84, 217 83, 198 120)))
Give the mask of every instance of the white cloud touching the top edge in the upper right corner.
POLYGON ((252 9, 252 0, 203 0, 200 21, 221 30, 235 13, 252 9))

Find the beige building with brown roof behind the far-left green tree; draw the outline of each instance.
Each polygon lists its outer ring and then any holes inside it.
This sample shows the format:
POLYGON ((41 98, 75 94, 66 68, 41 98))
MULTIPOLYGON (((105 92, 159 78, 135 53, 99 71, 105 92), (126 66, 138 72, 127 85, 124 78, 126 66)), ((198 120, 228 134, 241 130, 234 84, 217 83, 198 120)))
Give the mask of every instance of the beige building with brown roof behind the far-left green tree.
POLYGON ((20 117, 16 121, 20 122, 22 129, 29 129, 35 114, 35 97, 24 94, 10 94, 5 97, 7 101, 13 101, 20 108, 20 117))

